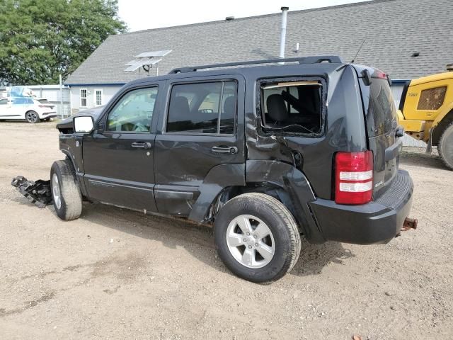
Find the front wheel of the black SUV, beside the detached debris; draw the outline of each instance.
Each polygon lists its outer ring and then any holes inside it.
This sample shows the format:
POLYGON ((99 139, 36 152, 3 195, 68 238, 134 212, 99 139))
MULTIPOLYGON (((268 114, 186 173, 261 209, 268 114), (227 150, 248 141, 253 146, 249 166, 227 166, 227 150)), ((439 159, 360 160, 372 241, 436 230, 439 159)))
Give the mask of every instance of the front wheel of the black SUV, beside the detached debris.
POLYGON ((79 218, 82 196, 69 160, 57 161, 50 168, 50 187, 55 211, 65 221, 79 218))

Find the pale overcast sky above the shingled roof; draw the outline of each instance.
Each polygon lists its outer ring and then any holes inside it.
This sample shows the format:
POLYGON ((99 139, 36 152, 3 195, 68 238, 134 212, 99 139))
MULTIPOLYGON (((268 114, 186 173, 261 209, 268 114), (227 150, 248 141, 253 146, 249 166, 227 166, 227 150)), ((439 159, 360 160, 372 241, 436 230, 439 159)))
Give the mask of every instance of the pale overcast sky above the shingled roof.
POLYGON ((280 12, 360 2, 360 0, 119 0, 119 15, 130 32, 188 23, 243 18, 280 12))

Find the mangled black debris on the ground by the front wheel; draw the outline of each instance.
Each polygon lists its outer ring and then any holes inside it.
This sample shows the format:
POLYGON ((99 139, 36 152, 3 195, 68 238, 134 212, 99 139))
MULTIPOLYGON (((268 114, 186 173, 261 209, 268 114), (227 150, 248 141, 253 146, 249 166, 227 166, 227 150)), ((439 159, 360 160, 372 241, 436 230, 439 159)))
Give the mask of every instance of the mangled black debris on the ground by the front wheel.
POLYGON ((18 191, 28 198, 31 203, 35 203, 38 208, 45 208, 52 204, 52 193, 50 192, 50 181, 28 181, 24 176, 13 178, 11 186, 15 186, 18 191))

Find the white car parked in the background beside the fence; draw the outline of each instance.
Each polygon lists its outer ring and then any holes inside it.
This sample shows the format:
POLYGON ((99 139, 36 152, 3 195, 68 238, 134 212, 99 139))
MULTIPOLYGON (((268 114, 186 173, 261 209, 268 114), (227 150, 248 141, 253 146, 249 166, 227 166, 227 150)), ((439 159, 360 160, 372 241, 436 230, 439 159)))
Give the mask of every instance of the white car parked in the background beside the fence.
POLYGON ((28 123, 39 123, 57 117, 52 104, 43 104, 35 98, 13 97, 0 99, 0 120, 25 119, 28 123))

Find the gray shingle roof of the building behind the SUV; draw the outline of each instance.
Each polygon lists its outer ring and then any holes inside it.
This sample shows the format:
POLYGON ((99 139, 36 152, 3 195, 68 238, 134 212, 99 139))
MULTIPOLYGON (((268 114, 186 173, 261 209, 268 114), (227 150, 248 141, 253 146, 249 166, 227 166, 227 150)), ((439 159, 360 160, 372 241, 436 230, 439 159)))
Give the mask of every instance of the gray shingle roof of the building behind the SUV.
MULTIPOLYGON (((453 62, 452 0, 375 0, 289 11, 286 57, 340 55, 413 79, 445 71, 453 62), (294 52, 299 42, 299 52, 294 52), (420 52, 419 57, 411 57, 420 52)), ((126 82, 141 74, 124 72, 134 55, 173 50, 159 74, 174 67, 257 60, 278 56, 281 13, 233 21, 142 30, 110 36, 71 74, 67 84, 126 82)))

